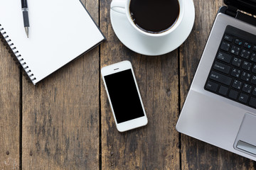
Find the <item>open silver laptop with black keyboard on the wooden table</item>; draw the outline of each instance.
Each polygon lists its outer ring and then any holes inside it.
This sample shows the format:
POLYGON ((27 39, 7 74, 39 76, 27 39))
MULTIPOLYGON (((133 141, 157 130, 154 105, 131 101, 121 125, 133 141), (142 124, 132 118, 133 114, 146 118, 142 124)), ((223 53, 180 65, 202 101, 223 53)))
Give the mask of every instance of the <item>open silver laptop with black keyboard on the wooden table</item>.
POLYGON ((256 161, 256 0, 225 0, 176 130, 256 161))

